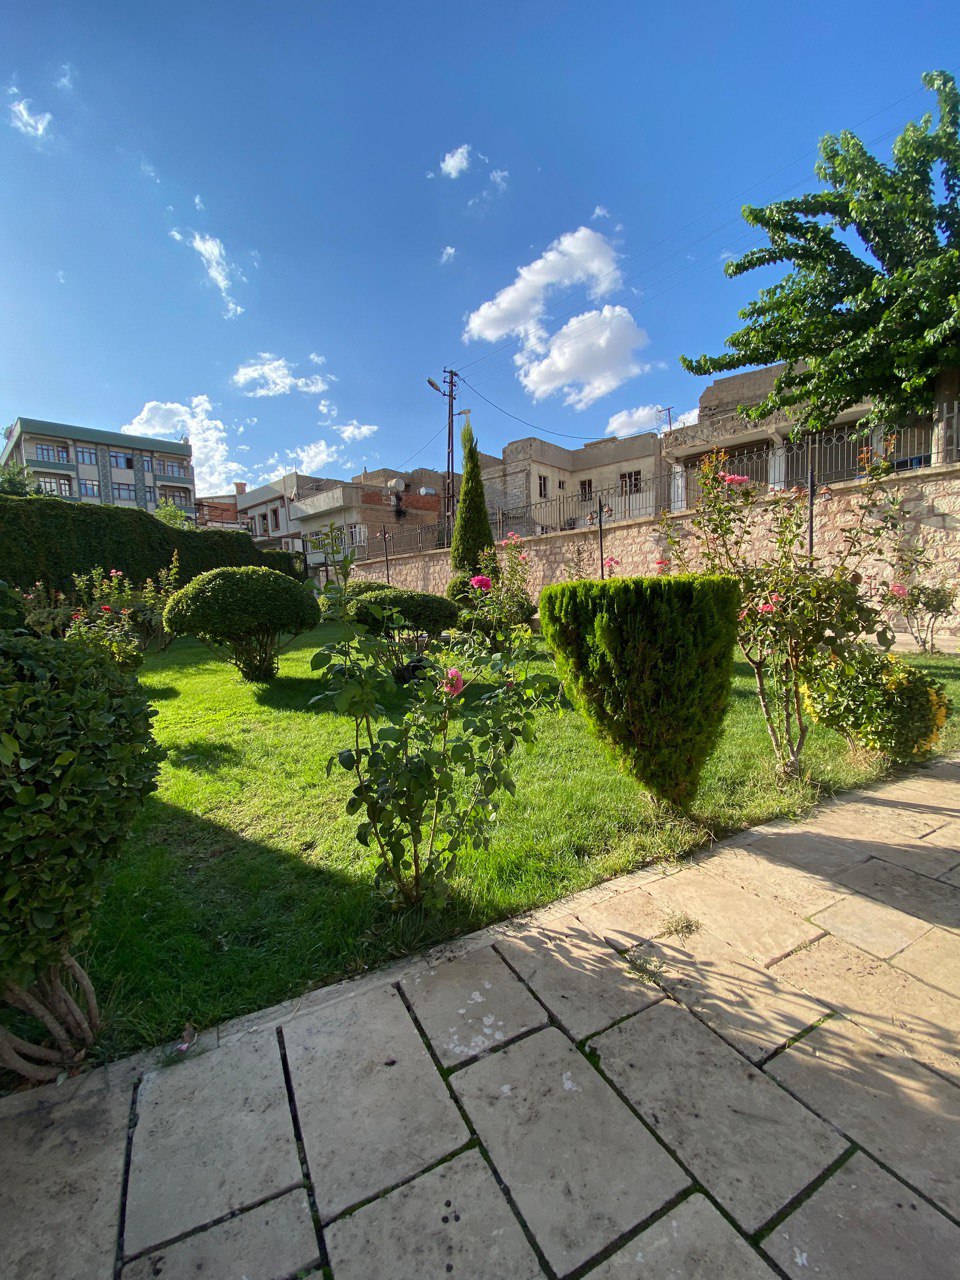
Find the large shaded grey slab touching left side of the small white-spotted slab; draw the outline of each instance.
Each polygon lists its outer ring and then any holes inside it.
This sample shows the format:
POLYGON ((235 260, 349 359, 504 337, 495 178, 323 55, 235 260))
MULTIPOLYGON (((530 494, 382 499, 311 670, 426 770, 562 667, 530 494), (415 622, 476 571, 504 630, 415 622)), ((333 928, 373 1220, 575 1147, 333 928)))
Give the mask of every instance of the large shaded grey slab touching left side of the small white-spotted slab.
POLYGON ((284 1039, 324 1221, 468 1140, 392 987, 298 1018, 284 1029, 284 1039))

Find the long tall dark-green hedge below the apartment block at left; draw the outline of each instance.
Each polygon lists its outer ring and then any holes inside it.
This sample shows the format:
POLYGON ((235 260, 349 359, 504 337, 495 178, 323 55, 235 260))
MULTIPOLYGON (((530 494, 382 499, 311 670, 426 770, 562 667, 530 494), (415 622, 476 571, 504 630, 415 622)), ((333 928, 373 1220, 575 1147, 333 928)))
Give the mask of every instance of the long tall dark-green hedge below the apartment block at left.
POLYGON ((298 577, 289 552, 261 552, 250 534, 172 529, 146 511, 95 507, 60 498, 0 497, 0 577, 68 591, 74 573, 119 568, 134 582, 154 577, 179 553, 180 582, 210 568, 260 564, 298 577))

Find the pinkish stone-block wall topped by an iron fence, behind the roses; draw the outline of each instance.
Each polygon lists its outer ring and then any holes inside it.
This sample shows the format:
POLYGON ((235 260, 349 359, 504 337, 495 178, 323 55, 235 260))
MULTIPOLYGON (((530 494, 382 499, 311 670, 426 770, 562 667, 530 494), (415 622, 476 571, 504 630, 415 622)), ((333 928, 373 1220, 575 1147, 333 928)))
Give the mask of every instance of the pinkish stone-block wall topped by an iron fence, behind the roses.
MULTIPOLYGON (((905 471, 888 476, 884 485, 900 490, 909 512, 909 532, 922 536, 931 549, 931 580, 948 584, 960 579, 960 463, 905 471)), ((855 503, 860 494, 856 481, 833 485, 829 497, 818 495, 814 507, 814 550, 828 562, 842 549, 844 529, 855 522, 855 503)), ((668 517, 682 534, 690 530, 690 512, 668 517)), ((758 521, 756 541, 765 536, 758 521)), ((599 530, 577 529, 570 532, 529 538, 525 548, 530 556, 530 588, 534 596, 550 582, 568 576, 599 577, 599 530), (573 566, 580 558, 580 572, 573 566)), ((657 561, 667 558, 659 524, 655 520, 631 520, 608 525, 603 531, 604 556, 621 562, 622 576, 653 575, 657 561)), ((883 581, 888 571, 881 564, 865 566, 883 581)), ((383 559, 370 559, 355 567, 357 577, 383 580, 383 559)), ((390 556, 390 582, 416 591, 443 594, 451 579, 449 552, 425 552, 416 556, 390 556)), ((942 628, 943 635, 960 634, 960 618, 954 617, 942 628)))

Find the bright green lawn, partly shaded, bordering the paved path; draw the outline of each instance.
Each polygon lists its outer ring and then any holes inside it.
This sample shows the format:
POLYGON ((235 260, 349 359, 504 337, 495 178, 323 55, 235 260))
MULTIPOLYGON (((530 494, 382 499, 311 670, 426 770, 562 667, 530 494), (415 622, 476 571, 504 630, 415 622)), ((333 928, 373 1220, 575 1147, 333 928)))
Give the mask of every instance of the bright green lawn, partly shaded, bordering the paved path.
MULTIPOLYGON (((305 637, 270 686, 247 685, 193 641, 147 660, 142 680, 168 748, 160 790, 133 829, 82 959, 105 1005, 99 1047, 116 1057, 253 1011, 393 956, 549 902, 713 832, 800 814, 820 794, 877 776, 818 731, 813 785, 778 791, 746 668, 694 806, 698 823, 657 826, 575 712, 541 717, 517 762, 517 796, 489 854, 463 856, 442 915, 394 916, 371 895, 371 858, 344 817, 346 774, 326 759, 343 719, 312 710, 305 637)), ((960 704, 960 664, 925 663, 960 704)), ((945 748, 960 742, 950 724, 945 748)))

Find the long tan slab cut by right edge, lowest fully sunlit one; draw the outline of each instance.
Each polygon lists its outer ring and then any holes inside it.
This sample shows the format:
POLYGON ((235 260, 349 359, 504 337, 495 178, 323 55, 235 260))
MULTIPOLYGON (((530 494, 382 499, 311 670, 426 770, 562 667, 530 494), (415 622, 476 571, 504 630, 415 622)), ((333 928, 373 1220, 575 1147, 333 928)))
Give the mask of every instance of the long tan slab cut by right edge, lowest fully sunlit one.
POLYGON ((960 1083, 960 1000, 832 936, 787 956, 776 973, 960 1083))

